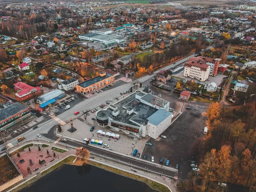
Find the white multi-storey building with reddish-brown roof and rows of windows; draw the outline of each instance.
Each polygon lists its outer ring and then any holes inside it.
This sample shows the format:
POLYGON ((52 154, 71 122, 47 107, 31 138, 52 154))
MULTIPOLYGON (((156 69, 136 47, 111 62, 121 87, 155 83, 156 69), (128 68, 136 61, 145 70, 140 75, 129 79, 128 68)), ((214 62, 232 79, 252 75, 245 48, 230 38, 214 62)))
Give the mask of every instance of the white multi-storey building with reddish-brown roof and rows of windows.
POLYGON ((199 81, 206 81, 209 76, 210 66, 197 59, 189 59, 184 64, 183 76, 198 79, 199 81))

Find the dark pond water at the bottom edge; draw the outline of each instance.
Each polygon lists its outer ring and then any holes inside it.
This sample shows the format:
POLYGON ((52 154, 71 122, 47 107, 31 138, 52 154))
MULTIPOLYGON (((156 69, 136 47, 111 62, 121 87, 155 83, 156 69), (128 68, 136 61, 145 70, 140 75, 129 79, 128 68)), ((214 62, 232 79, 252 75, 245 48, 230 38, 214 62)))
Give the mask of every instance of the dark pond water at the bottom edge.
POLYGON ((20 192, 155 192, 145 183, 94 166, 63 165, 20 192))

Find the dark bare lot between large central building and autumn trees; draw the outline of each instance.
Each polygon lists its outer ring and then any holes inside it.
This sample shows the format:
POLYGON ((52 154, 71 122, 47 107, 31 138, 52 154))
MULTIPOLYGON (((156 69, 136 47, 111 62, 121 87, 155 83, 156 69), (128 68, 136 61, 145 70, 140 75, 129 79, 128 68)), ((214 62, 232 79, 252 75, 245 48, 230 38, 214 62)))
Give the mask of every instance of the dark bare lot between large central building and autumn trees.
POLYGON ((152 146, 146 145, 143 154, 148 157, 154 156, 155 163, 159 163, 161 157, 164 158, 164 163, 168 159, 170 166, 175 166, 176 163, 185 163, 191 159, 190 149, 196 137, 203 137, 207 117, 202 113, 204 114, 206 111, 207 108, 195 106, 192 106, 191 110, 184 108, 179 119, 163 132, 167 139, 149 140, 148 142, 152 143, 152 146))

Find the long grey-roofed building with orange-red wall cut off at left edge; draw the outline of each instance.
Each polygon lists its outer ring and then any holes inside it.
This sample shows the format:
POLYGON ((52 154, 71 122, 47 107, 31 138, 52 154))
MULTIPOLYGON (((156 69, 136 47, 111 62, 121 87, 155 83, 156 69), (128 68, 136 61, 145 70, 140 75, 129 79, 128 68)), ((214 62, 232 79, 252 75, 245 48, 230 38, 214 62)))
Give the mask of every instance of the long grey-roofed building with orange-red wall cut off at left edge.
POLYGON ((3 131, 23 119, 31 116, 30 109, 20 102, 13 103, 0 109, 0 131, 3 131))

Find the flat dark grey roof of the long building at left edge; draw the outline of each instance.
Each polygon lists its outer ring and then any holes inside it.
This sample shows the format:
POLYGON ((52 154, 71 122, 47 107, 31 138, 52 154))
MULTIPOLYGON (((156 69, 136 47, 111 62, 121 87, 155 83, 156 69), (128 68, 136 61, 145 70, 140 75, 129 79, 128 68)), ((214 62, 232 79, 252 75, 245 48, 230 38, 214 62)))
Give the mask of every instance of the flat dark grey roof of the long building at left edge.
POLYGON ((0 109, 0 121, 3 121, 4 119, 7 119, 10 116, 13 116, 25 109, 28 109, 28 107, 19 102, 9 105, 6 108, 0 109))

